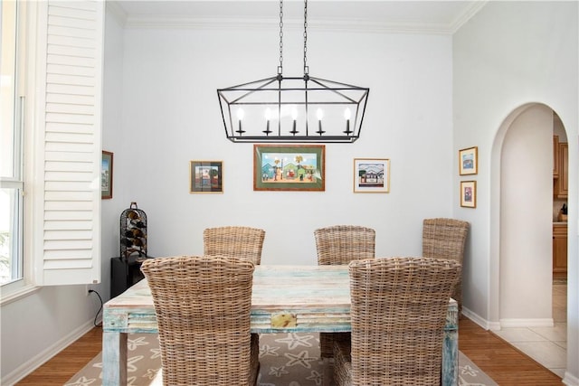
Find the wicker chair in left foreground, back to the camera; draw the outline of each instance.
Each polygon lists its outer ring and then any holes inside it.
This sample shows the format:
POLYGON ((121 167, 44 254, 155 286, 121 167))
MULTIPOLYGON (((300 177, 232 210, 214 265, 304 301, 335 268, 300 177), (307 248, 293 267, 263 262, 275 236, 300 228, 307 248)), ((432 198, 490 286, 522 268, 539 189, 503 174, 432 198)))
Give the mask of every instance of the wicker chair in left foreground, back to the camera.
POLYGON ((161 349, 154 384, 257 384, 260 347, 250 334, 253 269, 247 259, 216 256, 143 262, 161 349))

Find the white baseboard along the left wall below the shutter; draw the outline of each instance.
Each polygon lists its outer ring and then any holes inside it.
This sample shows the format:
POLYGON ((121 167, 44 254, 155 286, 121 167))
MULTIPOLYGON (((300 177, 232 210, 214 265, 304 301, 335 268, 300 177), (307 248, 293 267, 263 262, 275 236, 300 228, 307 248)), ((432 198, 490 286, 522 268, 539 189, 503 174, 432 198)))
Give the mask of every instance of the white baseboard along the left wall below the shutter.
POLYGON ((22 363, 20 366, 14 369, 14 372, 6 374, 6 376, 2 379, 2 384, 13 385, 18 381, 22 381, 25 376, 38 369, 45 362, 48 362, 54 355, 60 353, 70 344, 77 341, 79 338, 81 338, 82 335, 87 334, 93 327, 93 320, 91 319, 76 330, 73 330, 71 334, 64 336, 61 340, 57 341, 55 344, 52 344, 52 346, 47 347, 45 350, 43 350, 43 352, 33 356, 33 358, 31 358, 29 361, 22 363))

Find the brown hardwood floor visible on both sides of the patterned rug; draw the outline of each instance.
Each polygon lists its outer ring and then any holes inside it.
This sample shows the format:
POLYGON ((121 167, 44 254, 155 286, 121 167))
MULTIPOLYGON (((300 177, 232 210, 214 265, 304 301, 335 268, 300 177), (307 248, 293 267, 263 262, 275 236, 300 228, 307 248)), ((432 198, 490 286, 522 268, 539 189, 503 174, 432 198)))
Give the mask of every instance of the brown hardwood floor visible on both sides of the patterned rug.
MULTIPOLYGON (((555 373, 519 352, 496 334, 480 328, 470 319, 460 319, 459 331, 460 351, 500 386, 563 384, 555 373)), ((101 345, 102 330, 95 327, 17 384, 62 385, 100 353, 101 345)))

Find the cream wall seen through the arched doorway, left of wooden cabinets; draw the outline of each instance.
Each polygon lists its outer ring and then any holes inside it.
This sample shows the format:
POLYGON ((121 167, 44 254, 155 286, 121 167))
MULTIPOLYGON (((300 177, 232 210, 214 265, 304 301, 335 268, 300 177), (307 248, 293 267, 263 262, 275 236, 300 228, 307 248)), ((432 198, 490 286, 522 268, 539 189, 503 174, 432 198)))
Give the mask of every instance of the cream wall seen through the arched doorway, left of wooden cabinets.
POLYGON ((521 106, 493 144, 489 307, 495 329, 554 324, 552 237, 560 205, 553 191, 554 117, 544 104, 521 106))

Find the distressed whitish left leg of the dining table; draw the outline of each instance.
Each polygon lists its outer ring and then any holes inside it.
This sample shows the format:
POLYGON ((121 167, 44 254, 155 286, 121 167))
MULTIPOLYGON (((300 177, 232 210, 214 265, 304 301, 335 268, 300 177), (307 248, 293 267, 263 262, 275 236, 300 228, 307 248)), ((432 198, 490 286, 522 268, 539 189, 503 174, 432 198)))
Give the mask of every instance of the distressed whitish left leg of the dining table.
POLYGON ((102 384, 127 384, 127 336, 125 333, 102 333, 102 384))

